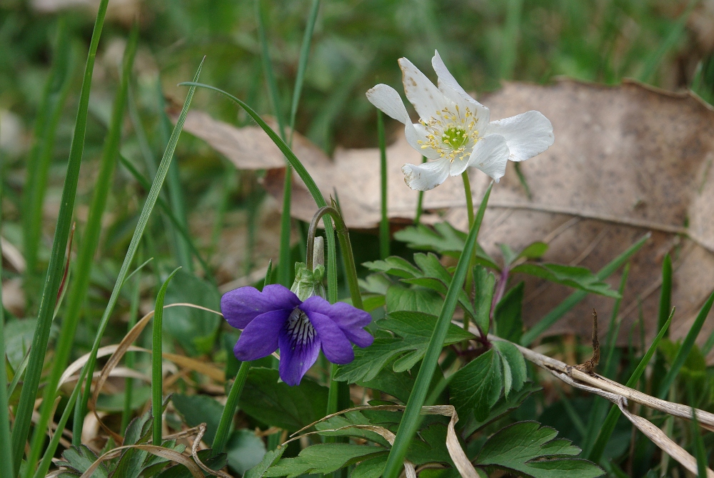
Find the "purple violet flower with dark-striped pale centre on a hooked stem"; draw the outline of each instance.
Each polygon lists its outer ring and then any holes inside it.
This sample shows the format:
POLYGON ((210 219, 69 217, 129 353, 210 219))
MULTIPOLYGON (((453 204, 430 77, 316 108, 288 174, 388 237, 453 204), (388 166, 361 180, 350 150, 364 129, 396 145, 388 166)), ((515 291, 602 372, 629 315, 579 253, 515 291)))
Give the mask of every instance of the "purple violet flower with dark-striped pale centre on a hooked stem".
POLYGON ((366 327, 372 317, 344 302, 330 304, 319 296, 305 302, 278 284, 241 287, 223 294, 221 312, 228 324, 243 329, 233 354, 243 362, 267 357, 280 348, 280 378, 297 385, 322 348, 333 364, 354 359, 352 343, 369 347, 374 337, 366 327))

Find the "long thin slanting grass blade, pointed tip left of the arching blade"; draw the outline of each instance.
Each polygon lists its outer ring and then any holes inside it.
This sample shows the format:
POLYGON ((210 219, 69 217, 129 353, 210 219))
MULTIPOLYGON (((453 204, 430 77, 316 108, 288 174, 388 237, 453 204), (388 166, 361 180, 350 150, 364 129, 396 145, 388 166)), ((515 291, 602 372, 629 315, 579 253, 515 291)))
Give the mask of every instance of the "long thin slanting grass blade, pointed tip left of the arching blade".
MULTIPOLYGON (((198 75, 201 74, 201 67, 203 66, 203 60, 201 60, 201 65, 198 66, 196 71, 196 76, 194 76, 194 81, 198 79, 198 75)), ((161 186, 164 184, 164 179, 166 179, 166 173, 169 170, 169 164, 171 163, 171 158, 174 156, 174 150, 176 149, 176 143, 178 142, 178 136, 181 134, 181 129, 183 129, 183 123, 186 121, 186 114, 188 113, 188 107, 191 105, 191 99, 193 99, 193 91, 195 87, 188 89, 188 94, 186 94, 186 101, 183 103, 183 108, 181 108, 181 114, 178 115, 178 120, 176 121, 176 126, 174 126, 174 131, 171 133, 171 139, 169 139, 169 144, 166 146, 166 151, 164 151, 164 156, 161 158, 161 163, 159 164, 159 170, 156 173, 154 182, 151 184, 151 189, 149 194, 146 196, 146 201, 144 202, 144 207, 141 209, 141 214, 139 215, 139 221, 136 224, 136 229, 134 229, 134 235, 131 236, 131 242, 129 242, 129 249, 126 251, 126 256, 124 257, 124 262, 121 264, 121 269, 119 269, 119 276, 116 278, 114 284, 114 289, 111 291, 111 296, 109 297, 109 302, 106 304, 106 309, 104 309, 104 314, 99 322, 99 327, 97 328, 96 338, 94 339, 94 344, 92 345, 91 353, 89 355, 89 360, 86 365, 82 368, 82 377, 89 377, 91 379, 94 373, 94 367, 96 366, 96 353, 99 350, 99 345, 101 343, 101 337, 104 335, 104 330, 107 324, 109 324, 109 317, 111 313, 114 312, 114 306, 116 305, 117 299, 119 299, 119 291, 121 290, 122 284, 124 284, 124 279, 129 274, 129 267, 131 262, 134 261, 134 254, 136 254, 136 249, 139 247, 139 241, 141 240, 142 234, 144 234, 144 229, 146 229, 146 224, 149 222, 149 216, 151 216, 151 211, 154 210, 154 205, 156 204, 156 198, 159 197, 159 191, 161 191, 161 186)), ((81 383, 80 379, 78 382, 81 383)), ((75 417, 76 426, 81 427, 82 417, 84 417, 84 410, 86 409, 86 403, 89 400, 90 383, 84 390, 84 394, 81 399, 81 407, 79 407, 79 416, 75 417)), ((81 428, 80 428, 81 429, 81 428)), ((76 429, 79 431, 80 429, 76 429)), ((76 435, 75 435, 76 437, 76 435)), ((77 437, 79 439, 79 437, 77 437)))

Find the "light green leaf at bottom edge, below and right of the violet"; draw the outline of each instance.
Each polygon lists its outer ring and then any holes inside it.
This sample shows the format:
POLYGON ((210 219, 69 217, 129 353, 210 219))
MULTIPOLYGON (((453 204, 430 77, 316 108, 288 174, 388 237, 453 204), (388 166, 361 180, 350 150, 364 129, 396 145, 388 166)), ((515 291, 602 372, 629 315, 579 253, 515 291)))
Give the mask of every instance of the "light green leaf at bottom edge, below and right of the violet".
POLYGON ((387 454, 383 447, 351 443, 323 443, 303 449, 295 458, 283 458, 270 467, 266 477, 298 477, 301 474, 326 474, 367 458, 387 454))

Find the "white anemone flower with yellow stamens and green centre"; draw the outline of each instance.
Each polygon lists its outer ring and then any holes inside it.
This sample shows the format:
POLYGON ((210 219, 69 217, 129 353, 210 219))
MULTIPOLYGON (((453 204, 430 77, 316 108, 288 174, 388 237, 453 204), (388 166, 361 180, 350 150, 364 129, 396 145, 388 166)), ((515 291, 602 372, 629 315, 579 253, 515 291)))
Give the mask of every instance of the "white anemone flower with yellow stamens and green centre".
POLYGON ((444 65, 438 51, 431 64, 438 88, 406 58, 399 59, 407 99, 419 114, 412 124, 395 89, 378 84, 367 98, 378 109, 404 124, 406 140, 435 161, 402 166, 411 189, 427 191, 458 176, 468 166, 481 169, 498 182, 511 161, 525 161, 553 144, 553 125, 540 111, 488 122, 486 106, 471 98, 444 65))

